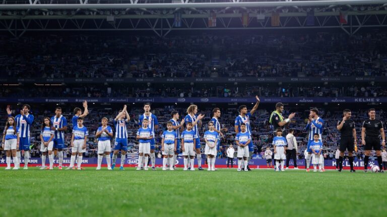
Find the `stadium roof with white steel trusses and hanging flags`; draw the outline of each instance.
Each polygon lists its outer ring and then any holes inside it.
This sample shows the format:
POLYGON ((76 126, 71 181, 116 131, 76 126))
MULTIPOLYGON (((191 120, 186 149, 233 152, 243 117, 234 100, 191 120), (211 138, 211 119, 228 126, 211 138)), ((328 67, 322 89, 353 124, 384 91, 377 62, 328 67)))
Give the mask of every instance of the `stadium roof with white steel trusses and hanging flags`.
POLYGON ((153 31, 165 36, 183 30, 316 28, 353 35, 363 27, 385 27, 386 18, 385 0, 0 0, 0 31, 15 37, 26 31, 153 31))

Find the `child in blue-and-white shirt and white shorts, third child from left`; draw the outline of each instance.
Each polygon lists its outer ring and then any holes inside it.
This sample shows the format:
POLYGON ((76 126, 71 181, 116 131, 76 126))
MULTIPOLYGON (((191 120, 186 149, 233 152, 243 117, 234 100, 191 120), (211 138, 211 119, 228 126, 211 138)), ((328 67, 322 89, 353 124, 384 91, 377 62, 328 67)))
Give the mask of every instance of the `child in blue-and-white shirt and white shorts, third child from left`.
POLYGON ((86 152, 87 136, 89 132, 86 127, 83 126, 83 118, 78 118, 77 126, 73 127, 73 135, 71 137, 71 160, 70 167, 68 169, 74 169, 75 158, 78 153, 78 170, 81 170, 83 153, 86 152))

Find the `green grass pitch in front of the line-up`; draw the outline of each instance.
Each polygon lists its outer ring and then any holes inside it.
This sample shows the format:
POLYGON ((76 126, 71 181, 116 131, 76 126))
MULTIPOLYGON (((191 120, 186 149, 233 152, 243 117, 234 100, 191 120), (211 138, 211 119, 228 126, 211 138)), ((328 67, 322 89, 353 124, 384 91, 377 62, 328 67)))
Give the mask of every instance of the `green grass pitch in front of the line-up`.
POLYGON ((383 216, 387 174, 0 168, 0 216, 383 216))

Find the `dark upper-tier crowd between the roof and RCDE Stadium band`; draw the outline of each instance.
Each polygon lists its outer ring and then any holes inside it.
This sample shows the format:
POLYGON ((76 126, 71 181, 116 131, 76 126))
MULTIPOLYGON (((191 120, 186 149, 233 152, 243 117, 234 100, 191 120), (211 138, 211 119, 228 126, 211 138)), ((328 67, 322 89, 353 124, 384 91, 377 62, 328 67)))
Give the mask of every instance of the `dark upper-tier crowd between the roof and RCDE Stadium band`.
POLYGON ((0 36, 0 76, 387 76, 387 35, 0 36))

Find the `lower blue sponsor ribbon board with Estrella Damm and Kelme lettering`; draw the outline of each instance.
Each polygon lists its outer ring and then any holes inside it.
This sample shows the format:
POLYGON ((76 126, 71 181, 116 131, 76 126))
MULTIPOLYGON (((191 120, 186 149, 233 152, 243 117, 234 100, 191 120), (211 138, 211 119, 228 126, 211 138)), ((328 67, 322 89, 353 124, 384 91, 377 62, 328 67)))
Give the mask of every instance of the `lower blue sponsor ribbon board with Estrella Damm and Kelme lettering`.
MULTIPOLYGON (((366 102, 366 103, 382 103, 387 102, 387 97, 260 97, 261 103, 356 103, 356 102, 366 102)), ((15 102, 36 102, 36 103, 68 103, 68 102, 82 102, 87 100, 88 102, 97 102, 97 103, 200 103, 200 102, 209 102, 209 103, 249 103, 255 102, 255 97, 2 97, 0 102, 15 103, 15 102)))

